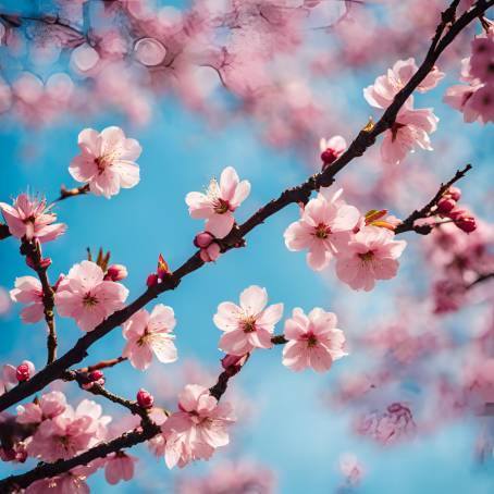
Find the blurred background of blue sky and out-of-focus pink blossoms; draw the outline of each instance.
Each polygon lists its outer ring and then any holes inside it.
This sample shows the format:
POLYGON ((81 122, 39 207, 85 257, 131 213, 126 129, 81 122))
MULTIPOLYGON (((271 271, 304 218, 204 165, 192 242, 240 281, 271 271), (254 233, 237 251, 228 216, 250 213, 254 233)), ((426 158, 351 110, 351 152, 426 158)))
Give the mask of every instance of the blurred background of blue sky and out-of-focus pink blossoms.
MULTIPOLYGON (((188 192, 235 166, 251 183, 236 212, 242 222, 316 173, 319 138, 341 134, 350 141, 370 115, 379 118, 362 88, 400 58, 419 61, 445 5, 1 1, 0 198, 10 202, 28 190, 54 199, 62 184, 77 185, 67 166, 78 152, 78 132, 121 126, 143 146, 140 183, 111 200, 87 195, 59 203, 55 212, 69 230, 45 252, 55 280, 85 259, 86 247, 110 250, 112 262, 127 267, 124 284, 135 298, 160 252, 173 270, 195 251, 202 224, 188 215, 188 192)), ((341 283, 332 265, 314 273, 304 254, 286 249, 283 232, 298 208, 282 210, 248 236, 246 248, 161 296, 177 319, 178 361, 155 362, 146 373, 124 362, 106 372, 107 386, 129 398, 146 387, 174 409, 184 384, 212 385, 222 358, 212 316, 218 304, 237 301, 252 284, 268 289, 270 302, 284 302, 285 317, 295 307, 335 312, 350 355, 319 375, 284 368, 280 347, 255 353, 224 398, 238 415, 227 447, 209 462, 169 471, 140 445, 132 452, 139 457, 134 479, 110 487, 98 472, 88 480, 94 492, 494 492, 493 418, 479 407, 474 385, 477 367, 493 357, 493 285, 458 292, 444 283, 460 276, 465 288, 493 267, 493 128, 464 123, 442 102, 445 88, 457 84, 473 34, 445 54, 440 87, 416 98, 418 108, 434 107, 441 119, 431 136, 434 152, 420 150, 390 166, 378 144, 334 186, 362 212, 386 208, 405 218, 471 162, 459 186, 479 232, 458 231, 464 237, 446 245, 439 234, 406 234, 398 276, 360 293, 341 283), (456 262, 461 256, 468 267, 456 262), (444 298, 453 300, 447 308, 444 298), (394 429, 383 439, 372 424, 386 418, 394 429), (348 467, 354 464, 358 479, 348 467), (225 472, 236 472, 236 481, 245 476, 247 486, 234 490, 225 472), (211 476, 220 480, 207 491, 203 479, 211 476)), ((0 363, 29 359, 39 369, 44 323, 23 324, 21 307, 9 301, 15 277, 30 274, 16 239, 0 243, 0 363)), ((81 331, 61 318, 58 329, 62 353, 81 331)), ((85 362, 118 357, 123 345, 115 329, 85 362)), ((73 383, 54 386, 74 404, 86 397, 73 383)), ((24 471, 29 461, 2 462, 0 472, 24 471)))

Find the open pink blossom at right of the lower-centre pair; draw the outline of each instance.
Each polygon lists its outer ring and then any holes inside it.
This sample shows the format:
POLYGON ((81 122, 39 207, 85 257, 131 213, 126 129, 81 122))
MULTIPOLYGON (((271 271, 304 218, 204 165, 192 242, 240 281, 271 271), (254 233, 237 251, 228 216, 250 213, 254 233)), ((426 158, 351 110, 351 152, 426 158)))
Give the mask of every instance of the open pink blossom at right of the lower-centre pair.
POLYGON ((308 316, 296 308, 292 318, 285 321, 285 338, 288 343, 283 348, 283 365, 294 371, 311 367, 317 372, 331 369, 334 360, 346 355, 345 336, 336 329, 336 316, 319 307, 308 316))

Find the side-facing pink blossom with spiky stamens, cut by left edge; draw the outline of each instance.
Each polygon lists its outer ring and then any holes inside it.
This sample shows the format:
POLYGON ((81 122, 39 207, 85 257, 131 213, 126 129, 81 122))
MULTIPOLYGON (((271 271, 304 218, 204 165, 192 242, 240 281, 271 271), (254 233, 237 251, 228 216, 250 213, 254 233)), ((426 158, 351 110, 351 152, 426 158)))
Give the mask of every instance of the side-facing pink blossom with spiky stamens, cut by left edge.
POLYGON ((57 214, 50 208, 46 199, 30 199, 27 194, 21 194, 13 206, 0 202, 9 232, 16 238, 25 237, 29 242, 37 238, 41 244, 54 240, 66 230, 65 224, 54 223, 57 214))

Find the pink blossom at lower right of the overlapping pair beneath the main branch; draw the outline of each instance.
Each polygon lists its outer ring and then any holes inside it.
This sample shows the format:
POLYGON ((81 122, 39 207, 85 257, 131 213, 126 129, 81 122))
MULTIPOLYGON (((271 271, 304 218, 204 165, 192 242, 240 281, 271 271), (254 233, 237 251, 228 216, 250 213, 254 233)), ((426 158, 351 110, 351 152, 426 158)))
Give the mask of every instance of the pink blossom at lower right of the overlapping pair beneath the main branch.
POLYGON ((336 258, 336 274, 354 289, 371 291, 375 280, 396 276, 397 259, 407 243, 395 240, 393 232, 378 226, 360 230, 336 258))

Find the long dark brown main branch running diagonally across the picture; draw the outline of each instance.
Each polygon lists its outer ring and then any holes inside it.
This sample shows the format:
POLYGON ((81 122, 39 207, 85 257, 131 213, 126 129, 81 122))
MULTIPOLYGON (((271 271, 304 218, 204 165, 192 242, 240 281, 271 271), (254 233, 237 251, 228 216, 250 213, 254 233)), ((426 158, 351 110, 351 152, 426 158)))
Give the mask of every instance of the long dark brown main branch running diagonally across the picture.
MULTIPOLYGON (((454 2, 456 3, 456 1, 454 2)), ((350 144, 348 149, 323 172, 312 175, 305 183, 297 187, 289 188, 281 194, 277 199, 273 199, 264 207, 259 209, 252 214, 245 223, 234 227, 234 230, 221 240, 223 251, 234 248, 240 243, 244 237, 256 226, 263 223, 269 217, 273 215, 281 209, 293 202, 307 202, 311 193, 320 187, 328 187, 334 182, 335 175, 343 170, 350 161, 363 155, 363 152, 375 143, 375 138, 388 129, 405 101, 411 96, 413 90, 427 77, 433 69, 440 54, 450 45, 455 37, 478 15, 483 14, 486 9, 494 4, 494 0, 479 0, 474 8, 470 9, 461 15, 447 30, 447 33, 436 42, 435 49, 429 50, 425 59, 420 65, 417 73, 411 77, 408 84, 395 96, 391 106, 385 110, 382 118, 375 125, 366 126, 355 140, 350 144)), ((450 8, 448 9, 450 12, 450 8)), ((446 11, 446 12, 448 12, 446 11)), ((443 15, 442 24, 445 25, 443 15)), ((447 17, 452 17, 450 13, 447 17)), ((449 22, 449 21, 448 21, 449 22)), ((444 30, 444 26, 443 26, 444 30)), ((434 38, 435 39, 435 38, 434 38)), ((175 272, 164 279, 162 283, 149 287, 143 295, 136 298, 131 305, 122 310, 116 311, 103 322, 101 322, 94 331, 81 337, 75 346, 55 360, 53 363, 47 366, 45 369, 35 374, 29 381, 18 385, 10 392, 0 396, 0 411, 9 408, 10 406, 18 403, 27 396, 42 390, 50 382, 59 379, 63 372, 75 363, 82 361, 87 356, 87 349, 98 339, 101 339, 114 328, 125 322, 137 310, 141 309, 158 295, 174 289, 178 286, 182 279, 187 274, 201 268, 203 261, 197 251, 187 261, 185 261, 175 272)))

